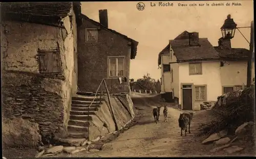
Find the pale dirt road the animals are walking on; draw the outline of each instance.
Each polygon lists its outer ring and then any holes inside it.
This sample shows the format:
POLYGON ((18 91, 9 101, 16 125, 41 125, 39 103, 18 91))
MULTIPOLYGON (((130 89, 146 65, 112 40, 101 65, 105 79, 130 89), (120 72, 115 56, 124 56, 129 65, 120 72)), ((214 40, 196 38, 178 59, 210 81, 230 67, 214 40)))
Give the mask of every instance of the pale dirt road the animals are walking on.
MULTIPOLYGON (((168 107, 168 123, 163 122, 163 108, 159 123, 154 123, 152 109, 159 104, 152 97, 133 98, 135 113, 134 126, 124 131, 119 137, 105 145, 102 151, 95 153, 80 152, 70 157, 113 157, 113 156, 181 156, 191 154, 187 146, 193 145, 193 133, 180 136, 178 126, 179 109, 168 107)), ((195 152, 195 150, 192 150, 195 152)), ((197 155, 195 153, 192 153, 197 155)))

